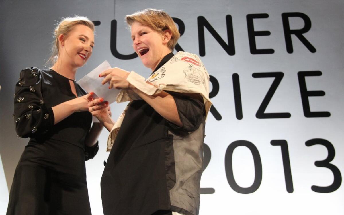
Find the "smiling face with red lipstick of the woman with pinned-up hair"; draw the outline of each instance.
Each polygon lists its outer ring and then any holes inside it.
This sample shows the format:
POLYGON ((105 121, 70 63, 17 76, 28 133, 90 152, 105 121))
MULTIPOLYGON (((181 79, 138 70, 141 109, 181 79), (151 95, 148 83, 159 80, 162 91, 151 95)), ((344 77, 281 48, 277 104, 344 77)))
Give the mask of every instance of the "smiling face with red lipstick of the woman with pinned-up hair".
POLYGON ((94 33, 86 25, 76 25, 67 36, 60 35, 59 59, 72 67, 83 66, 92 55, 94 33))

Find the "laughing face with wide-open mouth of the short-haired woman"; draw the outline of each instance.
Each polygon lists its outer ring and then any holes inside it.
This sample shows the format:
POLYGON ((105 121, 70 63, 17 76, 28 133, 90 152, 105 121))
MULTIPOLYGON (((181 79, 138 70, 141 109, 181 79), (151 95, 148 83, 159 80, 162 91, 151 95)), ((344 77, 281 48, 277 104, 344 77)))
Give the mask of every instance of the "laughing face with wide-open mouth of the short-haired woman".
POLYGON ((152 71, 162 58, 171 52, 167 46, 168 41, 171 39, 168 30, 159 33, 149 26, 133 22, 131 25, 131 39, 133 49, 141 58, 143 65, 151 68, 152 71))

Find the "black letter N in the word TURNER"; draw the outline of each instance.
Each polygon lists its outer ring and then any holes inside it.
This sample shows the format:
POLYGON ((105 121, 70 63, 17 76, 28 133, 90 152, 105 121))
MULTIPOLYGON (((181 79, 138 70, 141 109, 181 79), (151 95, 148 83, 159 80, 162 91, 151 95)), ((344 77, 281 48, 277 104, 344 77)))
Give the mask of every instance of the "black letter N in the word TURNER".
POLYGON ((231 15, 226 15, 228 45, 204 17, 197 17, 197 26, 200 56, 205 56, 204 27, 213 35, 215 40, 221 45, 221 47, 227 52, 228 55, 235 55, 233 23, 231 15))

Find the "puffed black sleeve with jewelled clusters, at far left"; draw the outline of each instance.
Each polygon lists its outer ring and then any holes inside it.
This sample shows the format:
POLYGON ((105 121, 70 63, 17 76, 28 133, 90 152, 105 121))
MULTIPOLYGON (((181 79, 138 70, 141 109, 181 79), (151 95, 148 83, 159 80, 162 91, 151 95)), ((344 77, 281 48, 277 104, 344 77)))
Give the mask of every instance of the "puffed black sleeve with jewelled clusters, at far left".
POLYGON ((29 67, 20 72, 14 94, 14 124, 18 137, 38 137, 54 125, 54 113, 42 96, 39 69, 29 67))

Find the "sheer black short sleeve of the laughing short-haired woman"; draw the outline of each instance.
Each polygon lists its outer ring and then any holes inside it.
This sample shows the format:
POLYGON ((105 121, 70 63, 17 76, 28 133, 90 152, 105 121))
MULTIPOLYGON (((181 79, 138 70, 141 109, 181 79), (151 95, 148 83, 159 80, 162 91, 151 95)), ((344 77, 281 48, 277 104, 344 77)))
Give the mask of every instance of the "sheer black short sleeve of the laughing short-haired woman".
POLYGON ((179 118, 183 123, 182 127, 178 127, 169 122, 170 126, 173 129, 182 129, 184 131, 197 130, 203 121, 203 116, 205 116, 204 103, 202 99, 192 98, 190 96, 171 91, 168 93, 173 96, 179 118))

